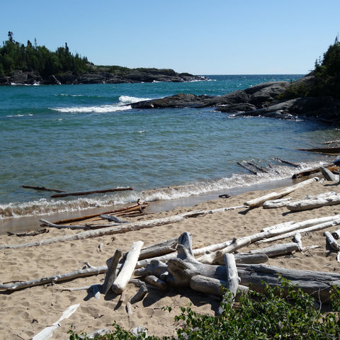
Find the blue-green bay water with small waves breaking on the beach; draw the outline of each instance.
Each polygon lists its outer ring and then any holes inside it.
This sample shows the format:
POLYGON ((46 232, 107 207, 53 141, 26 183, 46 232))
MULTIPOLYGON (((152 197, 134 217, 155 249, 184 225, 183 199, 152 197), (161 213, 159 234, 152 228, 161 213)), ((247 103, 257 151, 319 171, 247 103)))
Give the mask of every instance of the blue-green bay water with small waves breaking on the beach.
POLYGON ((190 83, 0 87, 0 218, 172 199, 289 178, 330 162, 299 152, 339 138, 310 120, 232 118, 213 108, 136 110, 127 104, 178 93, 223 95, 300 75, 208 76, 190 83), (237 162, 273 168, 253 176, 237 162), (50 198, 21 185, 68 192, 130 187, 133 191, 50 198), (173 191, 160 189, 183 186, 173 191))

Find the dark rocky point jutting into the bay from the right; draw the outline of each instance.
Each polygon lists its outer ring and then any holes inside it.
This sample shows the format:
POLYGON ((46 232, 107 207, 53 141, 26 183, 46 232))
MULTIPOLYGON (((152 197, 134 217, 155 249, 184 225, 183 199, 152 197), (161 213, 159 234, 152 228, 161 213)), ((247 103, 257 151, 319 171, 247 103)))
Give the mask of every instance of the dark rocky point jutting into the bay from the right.
POLYGON ((269 118, 318 118, 331 123, 340 122, 340 101, 331 96, 285 98, 294 86, 313 86, 314 76, 308 74, 297 81, 270 81, 249 89, 237 90, 224 96, 196 96, 176 94, 165 98, 132 103, 132 108, 205 108, 232 113, 234 116, 251 115, 269 118), (283 99, 285 98, 285 99, 283 99))

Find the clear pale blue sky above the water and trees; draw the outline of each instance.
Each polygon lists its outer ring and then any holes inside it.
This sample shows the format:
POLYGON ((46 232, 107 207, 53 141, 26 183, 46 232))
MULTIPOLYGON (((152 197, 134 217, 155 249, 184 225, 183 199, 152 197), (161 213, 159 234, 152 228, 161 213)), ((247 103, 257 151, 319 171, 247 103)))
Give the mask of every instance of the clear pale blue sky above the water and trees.
POLYGON ((0 13, 2 40, 192 74, 306 74, 340 30, 339 0, 1 0, 0 13))

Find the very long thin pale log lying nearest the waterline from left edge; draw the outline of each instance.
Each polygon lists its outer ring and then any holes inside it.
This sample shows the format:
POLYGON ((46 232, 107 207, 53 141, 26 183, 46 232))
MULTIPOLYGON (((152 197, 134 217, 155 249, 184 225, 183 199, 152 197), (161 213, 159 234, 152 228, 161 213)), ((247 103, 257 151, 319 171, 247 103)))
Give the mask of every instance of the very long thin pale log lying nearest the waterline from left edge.
POLYGON ((140 222, 130 222, 125 223, 125 225, 113 225, 112 227, 106 226, 102 229, 95 229, 95 230, 87 230, 86 232, 79 232, 77 234, 72 235, 65 235, 62 237, 53 237, 51 239, 42 239, 40 241, 36 242, 27 242, 22 244, 3 244, 0 246, 1 249, 20 249, 25 248, 29 246, 42 246, 47 244, 53 244, 56 242, 67 242, 67 241, 74 241, 76 239, 87 239, 91 237, 101 237, 105 235, 112 235, 112 234, 122 234, 125 232, 133 232, 140 229, 145 228, 152 228, 157 227, 160 225, 169 225, 170 223, 177 223, 185 220, 189 217, 197 217, 197 216, 204 216, 207 214, 212 214, 214 212, 224 212, 227 210, 234 210, 244 208, 244 205, 238 205, 236 207, 227 207, 227 208, 217 208, 214 210, 195 210, 195 211, 189 211, 189 212, 183 212, 179 215, 174 215, 170 217, 163 217, 163 218, 157 218, 154 220, 146 220, 146 221, 140 221, 140 222))

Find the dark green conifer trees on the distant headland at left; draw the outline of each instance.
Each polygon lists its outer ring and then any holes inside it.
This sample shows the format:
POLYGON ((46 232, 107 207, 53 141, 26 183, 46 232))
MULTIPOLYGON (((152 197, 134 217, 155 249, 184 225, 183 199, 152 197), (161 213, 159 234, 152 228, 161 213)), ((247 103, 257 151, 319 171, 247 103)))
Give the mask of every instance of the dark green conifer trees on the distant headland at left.
POLYGON ((37 71, 42 77, 62 72, 87 72, 89 61, 80 57, 78 53, 72 55, 69 47, 58 47, 51 52, 45 46, 32 45, 28 40, 27 45, 16 42, 13 33, 8 32, 8 40, 0 47, 0 75, 11 76, 17 70, 37 71))

